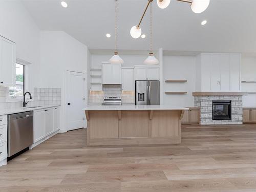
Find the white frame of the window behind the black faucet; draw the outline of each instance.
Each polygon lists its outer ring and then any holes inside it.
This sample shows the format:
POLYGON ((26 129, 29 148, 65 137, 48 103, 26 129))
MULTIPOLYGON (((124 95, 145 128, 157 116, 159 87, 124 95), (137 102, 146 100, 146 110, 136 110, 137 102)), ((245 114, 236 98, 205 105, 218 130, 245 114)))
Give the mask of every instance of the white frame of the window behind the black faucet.
MULTIPOLYGON (((28 68, 29 68, 29 64, 31 63, 18 58, 16 58, 16 63, 24 66, 24 72, 23 72, 24 73, 24 85, 23 85, 24 90, 23 91, 25 93, 26 91, 28 91, 28 72, 29 72, 28 68)), ((20 101, 23 101, 23 96, 17 96, 17 97, 10 96, 10 88, 6 87, 6 102, 20 102, 20 101)))

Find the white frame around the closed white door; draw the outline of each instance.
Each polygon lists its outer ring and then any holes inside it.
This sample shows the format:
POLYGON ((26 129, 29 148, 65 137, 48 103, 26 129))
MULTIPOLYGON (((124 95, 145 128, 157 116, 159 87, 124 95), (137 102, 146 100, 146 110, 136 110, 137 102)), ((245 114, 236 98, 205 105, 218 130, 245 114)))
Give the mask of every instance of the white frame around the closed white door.
MULTIPOLYGON (((83 106, 82 108, 85 108, 86 106, 86 102, 87 102, 87 73, 86 72, 82 72, 82 71, 74 71, 74 70, 65 70, 65 81, 64 81, 64 84, 63 84, 63 88, 65 91, 63 91, 63 101, 62 101, 62 105, 64 106, 63 108, 65 110, 63 110, 63 117, 65 117, 65 131, 63 130, 63 132, 67 132, 67 131, 70 131, 70 129, 68 129, 68 121, 67 121, 67 96, 68 96, 68 89, 67 89, 67 86, 68 86, 68 83, 67 83, 67 80, 68 80, 68 73, 69 72, 75 72, 75 73, 81 73, 83 75, 83 96, 84 96, 84 100, 83 100, 83 106)), ((83 121, 83 128, 87 128, 87 121, 86 121, 86 116, 84 114, 84 121, 83 121)))

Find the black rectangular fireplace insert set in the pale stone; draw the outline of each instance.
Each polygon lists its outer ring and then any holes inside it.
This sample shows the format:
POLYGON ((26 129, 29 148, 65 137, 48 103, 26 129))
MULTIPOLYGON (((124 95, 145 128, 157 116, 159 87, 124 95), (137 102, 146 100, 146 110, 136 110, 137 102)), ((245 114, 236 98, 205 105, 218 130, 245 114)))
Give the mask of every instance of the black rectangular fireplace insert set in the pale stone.
POLYGON ((212 101, 212 120, 230 120, 231 101, 212 101))

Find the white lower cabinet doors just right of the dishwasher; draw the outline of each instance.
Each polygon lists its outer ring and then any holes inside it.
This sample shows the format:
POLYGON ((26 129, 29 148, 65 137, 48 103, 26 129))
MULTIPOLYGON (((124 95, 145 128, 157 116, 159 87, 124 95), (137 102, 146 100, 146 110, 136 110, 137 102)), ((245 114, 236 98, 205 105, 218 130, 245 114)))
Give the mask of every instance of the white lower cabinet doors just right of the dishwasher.
POLYGON ((60 108, 34 111, 34 143, 60 129, 60 108))

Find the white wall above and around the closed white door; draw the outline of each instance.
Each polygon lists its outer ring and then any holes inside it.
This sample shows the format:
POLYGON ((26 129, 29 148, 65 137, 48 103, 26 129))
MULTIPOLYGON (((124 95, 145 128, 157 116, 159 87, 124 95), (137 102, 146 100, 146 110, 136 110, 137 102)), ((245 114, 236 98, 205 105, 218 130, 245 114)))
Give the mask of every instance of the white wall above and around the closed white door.
MULTIPOLYGON (((61 88, 63 109, 61 119, 66 119, 67 70, 84 73, 87 79, 87 54, 87 46, 63 31, 41 31, 40 33, 41 87, 61 88)), ((84 85, 85 98, 87 98, 86 90, 87 82, 84 85)), ((62 131, 66 128, 66 121, 62 120, 62 131)))

